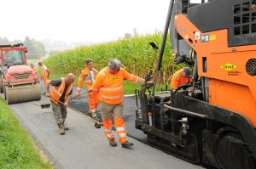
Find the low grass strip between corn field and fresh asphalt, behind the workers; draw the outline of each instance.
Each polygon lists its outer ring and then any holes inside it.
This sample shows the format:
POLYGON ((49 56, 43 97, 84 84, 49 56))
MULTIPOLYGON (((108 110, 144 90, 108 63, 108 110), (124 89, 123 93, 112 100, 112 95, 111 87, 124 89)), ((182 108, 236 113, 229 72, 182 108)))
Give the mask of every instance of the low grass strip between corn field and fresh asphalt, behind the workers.
MULTIPOLYGON (((49 79, 56 79, 56 78, 65 77, 65 76, 67 76, 67 75, 64 75, 64 74, 50 74, 49 79)), ((74 82, 75 87, 78 85, 78 81, 79 81, 79 76, 76 76, 75 82, 74 82)), ((135 89, 140 88, 141 85, 142 85, 141 83, 132 83, 132 82, 125 81, 124 82, 124 95, 125 94, 134 94, 135 89)), ((84 87, 84 83, 83 83, 83 87, 84 87)), ((161 91, 161 89, 165 90, 166 85, 164 85, 164 84, 157 85, 155 91, 158 92, 158 91, 161 91)), ((168 89, 170 89, 169 86, 168 86, 168 89)))

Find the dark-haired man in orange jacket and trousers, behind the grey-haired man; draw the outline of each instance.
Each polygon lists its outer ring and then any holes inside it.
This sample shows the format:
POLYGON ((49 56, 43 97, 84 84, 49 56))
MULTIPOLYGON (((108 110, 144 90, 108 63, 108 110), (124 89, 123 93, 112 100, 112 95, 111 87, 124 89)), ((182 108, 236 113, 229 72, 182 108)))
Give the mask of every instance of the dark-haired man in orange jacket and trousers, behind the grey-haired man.
MULTIPOLYGON (((79 76, 79 82, 78 82, 78 87, 77 90, 78 92, 76 93, 76 96, 78 97, 80 94, 80 90, 83 84, 83 81, 85 82, 85 87, 88 90, 91 90, 92 84, 95 82, 96 79, 96 75, 98 74, 98 70, 96 70, 95 68, 93 68, 93 61, 92 59, 87 59, 85 61, 85 68, 84 70, 82 70, 80 76, 79 76)), ((96 93, 93 92, 88 92, 88 102, 89 102, 89 115, 95 119, 96 121, 98 121, 98 117, 96 115, 96 108, 98 106, 98 97, 96 95, 96 93)))

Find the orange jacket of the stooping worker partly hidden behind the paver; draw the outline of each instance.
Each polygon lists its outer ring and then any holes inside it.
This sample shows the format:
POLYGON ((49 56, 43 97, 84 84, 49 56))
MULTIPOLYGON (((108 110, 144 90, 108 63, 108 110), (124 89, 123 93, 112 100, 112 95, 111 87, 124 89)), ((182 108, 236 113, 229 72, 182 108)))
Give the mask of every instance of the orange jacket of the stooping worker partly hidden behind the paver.
POLYGON ((182 70, 177 70, 172 76, 171 88, 173 90, 177 89, 177 87, 192 82, 192 79, 189 77, 184 77, 182 70))

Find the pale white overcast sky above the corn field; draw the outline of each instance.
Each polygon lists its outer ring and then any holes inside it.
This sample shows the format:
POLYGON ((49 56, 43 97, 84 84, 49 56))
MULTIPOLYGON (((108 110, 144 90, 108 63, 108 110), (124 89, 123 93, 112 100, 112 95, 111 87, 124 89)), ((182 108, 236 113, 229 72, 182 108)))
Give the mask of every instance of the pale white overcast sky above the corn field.
POLYGON ((170 0, 3 0, 0 37, 106 42, 163 31, 170 0))

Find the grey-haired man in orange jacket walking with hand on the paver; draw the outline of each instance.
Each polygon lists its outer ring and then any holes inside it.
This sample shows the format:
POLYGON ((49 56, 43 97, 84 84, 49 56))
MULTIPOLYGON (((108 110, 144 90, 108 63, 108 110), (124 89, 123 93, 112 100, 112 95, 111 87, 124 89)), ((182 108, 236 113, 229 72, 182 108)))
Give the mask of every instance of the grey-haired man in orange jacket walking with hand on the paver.
MULTIPOLYGON (((108 67, 102 69, 96 76, 96 81, 92 85, 93 92, 98 93, 101 104, 102 122, 104 132, 108 138, 109 144, 117 146, 112 134, 111 115, 119 136, 119 142, 123 148, 131 148, 132 143, 127 141, 125 123, 123 120, 123 82, 145 82, 139 76, 128 73, 121 67, 119 59, 111 59, 108 67)), ((153 83, 153 82, 148 82, 153 83)))

